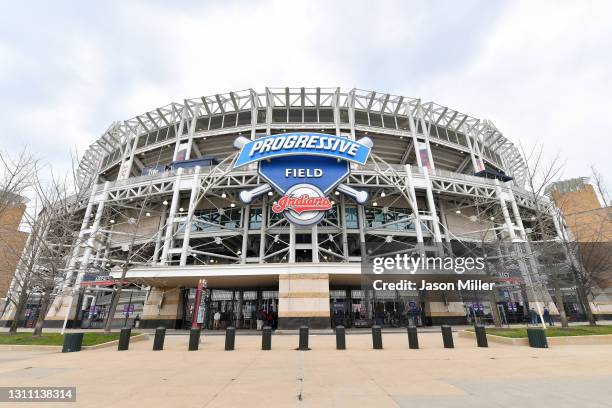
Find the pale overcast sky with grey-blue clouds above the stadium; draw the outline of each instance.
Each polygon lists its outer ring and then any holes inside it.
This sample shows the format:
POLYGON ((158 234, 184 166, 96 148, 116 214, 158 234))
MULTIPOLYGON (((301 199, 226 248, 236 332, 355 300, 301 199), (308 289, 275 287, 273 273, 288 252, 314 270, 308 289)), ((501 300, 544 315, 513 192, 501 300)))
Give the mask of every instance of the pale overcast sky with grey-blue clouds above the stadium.
POLYGON ((113 121, 171 101, 357 87, 490 119, 612 190, 611 22, 611 1, 6 2, 0 149, 67 169, 113 121))

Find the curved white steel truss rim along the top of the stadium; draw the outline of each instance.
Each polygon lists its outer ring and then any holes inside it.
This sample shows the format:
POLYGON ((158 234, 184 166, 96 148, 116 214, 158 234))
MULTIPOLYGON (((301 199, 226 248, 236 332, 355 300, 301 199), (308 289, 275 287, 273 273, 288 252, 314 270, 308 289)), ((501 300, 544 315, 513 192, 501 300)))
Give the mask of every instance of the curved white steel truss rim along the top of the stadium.
MULTIPOLYGON (((112 123, 81 158, 77 174, 81 185, 96 174, 104 157, 121 155, 129 142, 142 134, 163 128, 172 130, 172 136, 183 134, 186 122, 205 116, 227 115, 251 110, 252 124, 257 124, 257 110, 286 109, 348 109, 354 112, 375 112, 395 117, 420 117, 425 121, 427 132, 437 132, 438 127, 455 134, 466 135, 470 149, 489 155, 503 157, 507 175, 511 175, 519 186, 524 184, 526 166, 519 149, 487 119, 477 119, 465 113, 439 105, 422 102, 418 98, 389 93, 351 89, 343 92, 337 88, 265 88, 264 92, 254 89, 232 91, 198 98, 185 99, 182 103, 170 103, 124 121, 112 123)), ((350 115, 349 115, 350 116, 350 115)), ((272 115, 266 116, 266 124, 272 124, 272 115)), ((289 120, 287 120, 289 122, 289 120)), ((275 125, 279 122, 275 121, 275 125)), ((339 125, 335 113, 330 123, 339 125)), ((353 123, 354 124, 354 123, 353 123)), ((240 124, 238 124, 240 125, 240 124)), ((246 125, 246 123, 245 123, 246 125)), ((318 127, 313 125, 313 127, 318 127)), ((406 130, 406 128, 404 128, 406 130)), ((218 129, 214 134, 231 132, 229 128, 218 129)), ((170 133, 168 133, 170 137, 170 133)), ((129 149, 129 148, 128 148, 129 149)))

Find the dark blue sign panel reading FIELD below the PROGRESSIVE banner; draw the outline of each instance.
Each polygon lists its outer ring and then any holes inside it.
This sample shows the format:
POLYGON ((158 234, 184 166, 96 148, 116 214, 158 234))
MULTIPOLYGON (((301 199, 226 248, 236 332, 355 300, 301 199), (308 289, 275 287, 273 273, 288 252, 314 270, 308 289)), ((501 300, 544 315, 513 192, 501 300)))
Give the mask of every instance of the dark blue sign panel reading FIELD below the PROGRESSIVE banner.
POLYGON ((276 157, 259 163, 259 174, 283 194, 303 183, 316 186, 327 194, 349 175, 349 164, 325 156, 276 157))

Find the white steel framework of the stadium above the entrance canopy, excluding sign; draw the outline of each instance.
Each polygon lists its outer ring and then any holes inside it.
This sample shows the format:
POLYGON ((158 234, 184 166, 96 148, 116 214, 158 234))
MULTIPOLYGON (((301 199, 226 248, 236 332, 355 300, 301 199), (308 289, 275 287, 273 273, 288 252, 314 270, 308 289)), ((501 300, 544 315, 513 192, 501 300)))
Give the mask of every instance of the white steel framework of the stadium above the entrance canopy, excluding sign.
POLYGON ((75 284, 92 269, 116 265, 128 237, 138 246, 134 263, 143 267, 350 263, 361 259, 366 242, 399 242, 409 252, 449 251, 450 245, 440 244, 462 238, 449 227, 448 210, 474 200, 501 207, 497 229, 510 240, 525 239, 519 211, 534 206, 521 189, 520 153, 490 121, 360 89, 248 89, 171 103, 113 123, 87 150, 78 174, 82 188, 93 186, 82 203, 93 225, 84 220, 79 236, 85 244, 68 268, 78 270, 75 284), (366 189, 368 203, 336 192, 333 209, 308 228, 272 213, 273 192, 238 205, 238 191, 264 182, 254 167, 233 169, 233 138, 299 129, 374 139, 369 162, 353 165, 344 181, 366 189), (212 155, 220 163, 138 175, 175 160, 181 149, 185 159, 212 155), (473 175, 484 168, 514 179, 499 183, 473 175), (135 212, 146 219, 136 219, 135 212))

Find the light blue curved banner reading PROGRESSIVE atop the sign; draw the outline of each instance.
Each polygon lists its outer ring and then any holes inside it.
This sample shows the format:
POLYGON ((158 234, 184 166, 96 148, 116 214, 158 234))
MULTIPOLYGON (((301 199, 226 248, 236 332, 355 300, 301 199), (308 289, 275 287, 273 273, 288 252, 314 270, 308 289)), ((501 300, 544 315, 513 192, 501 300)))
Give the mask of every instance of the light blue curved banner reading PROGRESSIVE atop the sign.
POLYGON ((323 133, 283 133, 246 143, 234 164, 241 167, 264 159, 291 155, 333 157, 365 164, 370 148, 345 137, 323 133))

